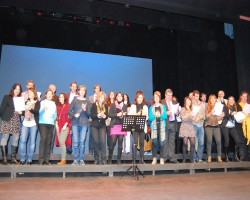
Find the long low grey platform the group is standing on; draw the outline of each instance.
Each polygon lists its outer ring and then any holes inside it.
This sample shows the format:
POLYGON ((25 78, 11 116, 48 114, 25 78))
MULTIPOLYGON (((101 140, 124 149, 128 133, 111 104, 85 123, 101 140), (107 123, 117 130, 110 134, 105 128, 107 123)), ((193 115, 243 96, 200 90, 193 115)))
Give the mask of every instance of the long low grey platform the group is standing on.
MULTIPOLYGON (((61 177, 67 177, 67 174, 104 174, 106 176, 115 176, 115 174, 122 174, 125 172, 132 164, 122 164, 122 165, 93 165, 93 164, 85 164, 72 166, 71 164, 66 165, 0 165, 0 175, 8 174, 10 178, 20 177, 20 175, 25 174, 29 176, 40 176, 41 174, 49 174, 49 176, 53 176, 54 174, 60 174, 61 177), (40 174, 40 175, 39 175, 40 174)), ((250 171, 250 162, 212 162, 212 163, 166 163, 165 165, 152 165, 148 164, 138 164, 137 165, 140 171, 147 175, 156 175, 156 174, 164 174, 169 173, 169 171, 174 172, 184 172, 189 174, 195 174, 196 171, 224 171, 228 170, 235 171, 244 169, 250 171)), ((130 170, 130 173, 133 174, 133 168, 130 170)))

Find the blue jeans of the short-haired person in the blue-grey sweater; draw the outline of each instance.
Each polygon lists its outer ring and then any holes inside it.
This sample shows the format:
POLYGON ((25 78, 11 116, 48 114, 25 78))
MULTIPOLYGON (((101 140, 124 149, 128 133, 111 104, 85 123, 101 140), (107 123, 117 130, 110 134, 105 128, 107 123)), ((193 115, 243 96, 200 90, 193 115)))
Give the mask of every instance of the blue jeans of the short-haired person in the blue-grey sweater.
POLYGON ((84 160, 88 126, 72 126, 74 160, 84 160))

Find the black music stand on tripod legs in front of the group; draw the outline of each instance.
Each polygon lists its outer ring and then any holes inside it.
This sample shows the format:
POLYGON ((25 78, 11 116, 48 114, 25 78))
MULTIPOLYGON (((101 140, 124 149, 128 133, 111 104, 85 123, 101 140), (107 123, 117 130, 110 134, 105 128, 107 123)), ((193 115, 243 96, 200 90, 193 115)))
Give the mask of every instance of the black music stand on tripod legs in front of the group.
POLYGON ((137 180, 139 180, 138 177, 138 173, 140 175, 143 176, 142 172, 140 171, 140 169, 138 168, 138 166, 135 164, 136 162, 136 146, 137 146, 137 142, 135 141, 135 131, 136 132, 143 132, 144 131, 144 127, 145 127, 145 121, 146 121, 146 116, 142 116, 142 115, 125 115, 123 118, 123 122, 122 122, 122 131, 131 131, 132 135, 133 135, 133 163, 132 166, 130 166, 126 172, 124 172, 124 174, 121 176, 121 178, 125 175, 125 174, 129 174, 130 176, 137 178, 137 180), (130 169, 133 168, 133 174, 130 173, 130 169))

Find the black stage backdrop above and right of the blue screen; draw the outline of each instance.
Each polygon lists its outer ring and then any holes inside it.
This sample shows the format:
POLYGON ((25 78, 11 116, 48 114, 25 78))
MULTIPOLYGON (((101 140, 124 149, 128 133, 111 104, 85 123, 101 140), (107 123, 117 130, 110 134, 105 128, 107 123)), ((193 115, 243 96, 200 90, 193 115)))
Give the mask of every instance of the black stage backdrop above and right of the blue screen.
POLYGON ((187 32, 1 16, 0 44, 152 58, 153 90, 163 97, 166 88, 181 102, 194 89, 208 95, 222 89, 226 97, 239 96, 234 40, 224 35, 221 22, 201 20, 198 31, 187 32))

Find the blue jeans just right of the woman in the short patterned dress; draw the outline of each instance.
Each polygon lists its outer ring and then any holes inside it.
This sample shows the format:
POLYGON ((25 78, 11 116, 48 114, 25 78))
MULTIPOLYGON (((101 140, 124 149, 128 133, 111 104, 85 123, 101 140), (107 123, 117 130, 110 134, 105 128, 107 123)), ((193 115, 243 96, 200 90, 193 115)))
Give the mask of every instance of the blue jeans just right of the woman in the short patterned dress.
POLYGON ((194 151, 194 160, 201 160, 204 149, 204 129, 203 126, 199 127, 194 125, 194 132, 198 142, 197 152, 194 151), (197 154, 197 155, 196 155, 197 154))

